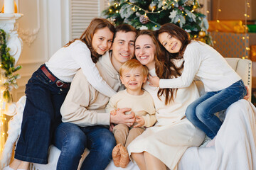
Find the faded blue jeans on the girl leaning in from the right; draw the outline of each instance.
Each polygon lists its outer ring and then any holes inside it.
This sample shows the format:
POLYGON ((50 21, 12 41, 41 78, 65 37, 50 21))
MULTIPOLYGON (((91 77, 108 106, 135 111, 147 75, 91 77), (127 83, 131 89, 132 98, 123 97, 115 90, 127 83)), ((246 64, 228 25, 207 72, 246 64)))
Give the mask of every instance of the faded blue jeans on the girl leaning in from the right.
POLYGON ((242 99, 246 93, 242 80, 226 89, 210 91, 188 106, 186 117, 193 125, 203 130, 210 139, 213 139, 222 125, 214 113, 225 110, 235 101, 242 99))

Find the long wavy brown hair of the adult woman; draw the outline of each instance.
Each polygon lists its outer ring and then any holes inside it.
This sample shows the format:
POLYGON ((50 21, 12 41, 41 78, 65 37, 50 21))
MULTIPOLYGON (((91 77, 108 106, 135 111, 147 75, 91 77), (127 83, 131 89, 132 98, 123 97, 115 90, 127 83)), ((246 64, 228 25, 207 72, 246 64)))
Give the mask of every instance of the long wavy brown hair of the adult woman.
MULTIPOLYGON (((160 79, 172 79, 181 76, 180 70, 183 68, 183 64, 181 65, 181 67, 176 67, 176 64, 174 64, 174 62, 172 62, 171 60, 172 56, 169 55, 169 52, 167 52, 160 44, 160 42, 156 39, 155 32, 153 32, 152 30, 141 30, 137 35, 136 39, 139 37, 139 35, 149 35, 154 45, 156 45, 154 60, 156 75, 160 79)), ((178 59, 178 57, 175 59, 178 59)), ((177 89, 159 89, 159 91, 157 92, 157 96, 161 100, 160 96, 164 95, 164 103, 167 105, 172 100, 174 100, 174 92, 177 92, 177 89)))

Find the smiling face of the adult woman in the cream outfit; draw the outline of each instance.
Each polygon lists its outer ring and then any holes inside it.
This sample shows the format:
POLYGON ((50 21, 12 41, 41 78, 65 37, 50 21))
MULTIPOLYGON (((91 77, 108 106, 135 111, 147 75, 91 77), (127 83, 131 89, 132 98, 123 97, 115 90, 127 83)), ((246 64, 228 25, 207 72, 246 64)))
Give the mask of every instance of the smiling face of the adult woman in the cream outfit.
POLYGON ((137 57, 137 60, 143 65, 146 65, 148 69, 154 69, 155 53, 156 45, 154 45, 151 37, 149 35, 139 35, 135 41, 135 56, 137 57))

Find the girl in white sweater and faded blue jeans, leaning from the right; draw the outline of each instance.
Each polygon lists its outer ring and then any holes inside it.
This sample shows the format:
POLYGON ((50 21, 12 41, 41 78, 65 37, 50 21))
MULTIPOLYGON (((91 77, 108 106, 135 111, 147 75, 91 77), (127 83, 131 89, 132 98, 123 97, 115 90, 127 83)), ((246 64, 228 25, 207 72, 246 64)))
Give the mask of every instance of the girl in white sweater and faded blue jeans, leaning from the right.
POLYGON ((190 86, 195 77, 200 79, 207 93, 188 106, 186 117, 213 139, 222 125, 214 113, 247 94, 242 79, 213 47, 191 40, 185 30, 173 23, 161 26, 156 36, 171 58, 183 58, 183 72, 175 79, 149 77, 149 82, 161 89, 176 89, 190 86))

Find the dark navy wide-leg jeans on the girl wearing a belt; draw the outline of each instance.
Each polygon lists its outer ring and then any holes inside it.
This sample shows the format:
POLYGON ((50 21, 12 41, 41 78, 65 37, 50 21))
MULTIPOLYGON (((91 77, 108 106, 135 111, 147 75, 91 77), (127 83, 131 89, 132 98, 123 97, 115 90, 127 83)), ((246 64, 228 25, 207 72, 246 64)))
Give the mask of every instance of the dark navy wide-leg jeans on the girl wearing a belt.
MULTIPOLYGON (((55 81, 57 80, 56 78, 55 81)), ((38 164, 48 163, 48 147, 55 128, 61 123, 60 107, 68 94, 68 89, 58 87, 55 81, 50 81, 41 68, 28 80, 16 159, 38 164)))

